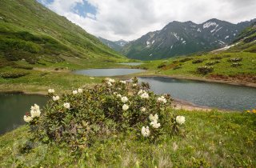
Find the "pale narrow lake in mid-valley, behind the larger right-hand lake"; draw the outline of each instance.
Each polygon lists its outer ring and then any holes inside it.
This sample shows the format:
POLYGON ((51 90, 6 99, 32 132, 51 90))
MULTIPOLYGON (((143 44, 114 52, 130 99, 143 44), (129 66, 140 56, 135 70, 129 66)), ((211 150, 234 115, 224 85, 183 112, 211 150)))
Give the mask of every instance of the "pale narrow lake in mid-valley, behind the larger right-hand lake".
POLYGON ((140 69, 114 68, 114 69, 89 69, 89 70, 75 70, 74 74, 84 74, 88 76, 118 76, 126 74, 135 74, 144 72, 140 69))

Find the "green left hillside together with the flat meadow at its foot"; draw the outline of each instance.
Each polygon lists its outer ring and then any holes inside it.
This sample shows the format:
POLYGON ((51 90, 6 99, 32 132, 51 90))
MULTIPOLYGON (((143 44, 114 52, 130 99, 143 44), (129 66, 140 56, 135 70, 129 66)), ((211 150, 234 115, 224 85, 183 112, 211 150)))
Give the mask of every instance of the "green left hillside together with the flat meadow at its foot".
POLYGON ((70 70, 117 66, 127 59, 35 0, 0 1, 0 90, 66 90, 98 82, 70 70), (27 68, 33 70, 26 70, 27 68), (59 70, 55 70, 59 69, 59 70))

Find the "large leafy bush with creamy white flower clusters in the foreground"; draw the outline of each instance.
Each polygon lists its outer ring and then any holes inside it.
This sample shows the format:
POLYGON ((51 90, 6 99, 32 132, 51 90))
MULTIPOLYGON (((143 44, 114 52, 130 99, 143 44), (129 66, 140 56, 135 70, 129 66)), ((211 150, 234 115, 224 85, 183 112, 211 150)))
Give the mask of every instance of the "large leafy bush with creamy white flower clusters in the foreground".
POLYGON ((131 132, 155 142, 164 138, 162 135, 178 133, 185 117, 175 116, 170 95, 158 96, 149 89, 147 83, 139 85, 137 78, 132 82, 106 78, 93 89, 78 89, 62 96, 50 89, 51 99, 42 115, 35 105, 24 120, 37 128, 32 129, 35 138, 74 149, 119 132, 131 132))

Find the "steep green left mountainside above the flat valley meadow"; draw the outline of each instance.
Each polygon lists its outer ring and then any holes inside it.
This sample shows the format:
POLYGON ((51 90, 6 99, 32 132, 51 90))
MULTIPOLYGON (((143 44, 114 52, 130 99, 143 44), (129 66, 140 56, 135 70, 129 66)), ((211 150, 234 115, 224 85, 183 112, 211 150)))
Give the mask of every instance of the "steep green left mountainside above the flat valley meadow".
POLYGON ((35 0, 0 1, 0 62, 121 58, 81 27, 35 0))

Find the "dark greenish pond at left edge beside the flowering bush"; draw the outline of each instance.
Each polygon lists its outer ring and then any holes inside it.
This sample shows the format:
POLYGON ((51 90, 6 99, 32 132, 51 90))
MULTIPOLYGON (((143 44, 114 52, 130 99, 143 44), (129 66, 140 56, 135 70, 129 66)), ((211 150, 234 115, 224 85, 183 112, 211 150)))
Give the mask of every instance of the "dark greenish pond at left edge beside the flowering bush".
POLYGON ((46 105, 48 98, 42 95, 0 94, 0 134, 25 124, 23 116, 34 103, 46 105))

